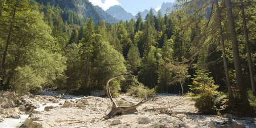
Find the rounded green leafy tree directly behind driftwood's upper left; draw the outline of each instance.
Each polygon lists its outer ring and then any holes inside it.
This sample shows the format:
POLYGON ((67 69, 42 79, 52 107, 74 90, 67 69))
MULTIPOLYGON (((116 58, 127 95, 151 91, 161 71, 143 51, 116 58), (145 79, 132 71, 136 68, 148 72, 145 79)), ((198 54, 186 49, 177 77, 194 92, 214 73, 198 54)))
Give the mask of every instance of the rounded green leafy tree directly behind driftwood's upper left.
POLYGON ((123 56, 109 42, 100 42, 96 58, 92 63, 91 87, 105 89, 105 82, 114 75, 126 72, 123 56))

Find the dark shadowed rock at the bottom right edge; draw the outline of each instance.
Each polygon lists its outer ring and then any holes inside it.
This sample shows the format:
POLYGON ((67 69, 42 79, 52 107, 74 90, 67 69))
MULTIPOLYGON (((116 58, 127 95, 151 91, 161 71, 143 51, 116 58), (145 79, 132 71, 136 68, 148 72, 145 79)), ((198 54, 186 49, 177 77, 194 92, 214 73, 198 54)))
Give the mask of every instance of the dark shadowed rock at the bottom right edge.
POLYGON ((211 128, 245 128, 243 124, 238 123, 235 120, 229 120, 224 122, 210 121, 211 128))

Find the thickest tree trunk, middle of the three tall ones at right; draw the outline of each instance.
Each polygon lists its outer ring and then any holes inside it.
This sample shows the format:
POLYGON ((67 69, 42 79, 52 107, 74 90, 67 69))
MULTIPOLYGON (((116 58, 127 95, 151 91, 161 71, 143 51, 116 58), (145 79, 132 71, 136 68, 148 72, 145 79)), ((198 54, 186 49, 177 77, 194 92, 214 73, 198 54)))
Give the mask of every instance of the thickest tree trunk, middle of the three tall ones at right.
POLYGON ((241 59, 239 56, 238 41, 237 41, 237 35, 236 35, 235 26, 234 26, 234 19, 233 19, 230 0, 225 0, 225 4, 227 9, 229 31, 230 31, 231 41, 232 41, 233 61, 234 61, 234 69, 236 70, 237 86, 241 93, 240 100, 246 100, 247 99, 246 89, 243 86, 241 59))

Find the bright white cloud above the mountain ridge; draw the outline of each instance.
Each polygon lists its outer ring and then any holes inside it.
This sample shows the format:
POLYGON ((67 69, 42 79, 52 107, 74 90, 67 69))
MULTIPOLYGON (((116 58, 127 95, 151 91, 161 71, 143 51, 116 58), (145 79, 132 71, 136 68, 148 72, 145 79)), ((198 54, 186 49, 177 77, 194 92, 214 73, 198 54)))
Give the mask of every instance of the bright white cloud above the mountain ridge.
POLYGON ((101 2, 101 0, 89 0, 93 5, 97 5, 101 7, 103 10, 109 9, 111 6, 114 5, 121 5, 118 0, 105 0, 104 3, 101 2))

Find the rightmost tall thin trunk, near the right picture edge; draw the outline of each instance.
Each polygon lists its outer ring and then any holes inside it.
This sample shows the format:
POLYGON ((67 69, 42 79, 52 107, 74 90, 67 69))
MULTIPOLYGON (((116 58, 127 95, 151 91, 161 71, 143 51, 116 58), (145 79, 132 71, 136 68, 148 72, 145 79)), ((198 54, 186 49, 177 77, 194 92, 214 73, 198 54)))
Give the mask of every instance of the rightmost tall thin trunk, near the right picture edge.
POLYGON ((244 14, 244 5, 243 0, 240 0, 240 8, 242 13, 242 19, 243 19, 243 27, 244 27, 244 36, 245 36, 245 42, 246 42, 246 51, 247 51, 247 59, 248 59, 248 65, 249 65, 249 72, 250 72, 250 79, 251 79, 251 88, 253 95, 256 95, 256 87, 255 87, 255 81, 254 81, 254 74, 253 74, 253 67, 252 67, 252 60, 251 60, 251 50, 249 47, 249 38, 248 38, 248 31, 246 26, 246 19, 244 14))

